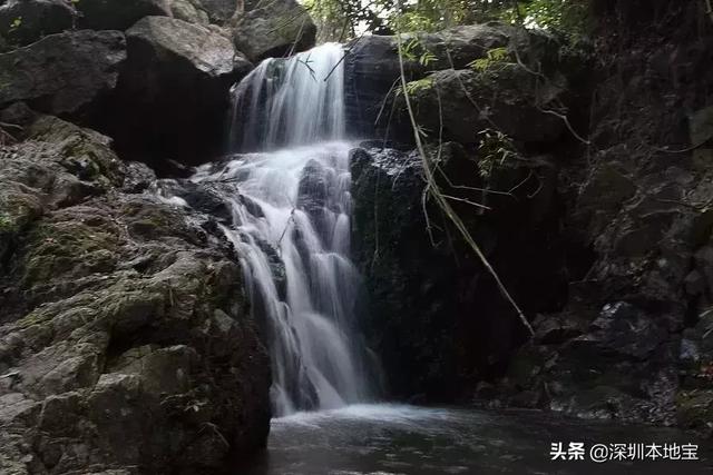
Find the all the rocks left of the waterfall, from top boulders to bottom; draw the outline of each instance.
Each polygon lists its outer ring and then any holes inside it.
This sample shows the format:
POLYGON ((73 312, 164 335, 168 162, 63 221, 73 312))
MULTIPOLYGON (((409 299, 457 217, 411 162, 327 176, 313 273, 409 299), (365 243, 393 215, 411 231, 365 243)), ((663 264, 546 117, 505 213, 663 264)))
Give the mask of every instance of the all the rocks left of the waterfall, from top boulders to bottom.
POLYGON ((207 190, 152 185, 221 147, 241 4, 0 2, 1 473, 214 474, 264 446, 235 250, 207 190))

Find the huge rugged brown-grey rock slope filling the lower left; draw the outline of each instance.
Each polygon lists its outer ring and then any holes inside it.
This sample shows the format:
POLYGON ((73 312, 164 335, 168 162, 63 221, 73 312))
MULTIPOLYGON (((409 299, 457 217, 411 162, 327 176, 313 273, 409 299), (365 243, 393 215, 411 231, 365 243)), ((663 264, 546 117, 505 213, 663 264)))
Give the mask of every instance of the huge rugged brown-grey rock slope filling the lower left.
POLYGON ((130 191, 150 174, 107 137, 52 117, 23 133, 0 147, 0 472, 229 471, 270 423, 232 249, 130 191))

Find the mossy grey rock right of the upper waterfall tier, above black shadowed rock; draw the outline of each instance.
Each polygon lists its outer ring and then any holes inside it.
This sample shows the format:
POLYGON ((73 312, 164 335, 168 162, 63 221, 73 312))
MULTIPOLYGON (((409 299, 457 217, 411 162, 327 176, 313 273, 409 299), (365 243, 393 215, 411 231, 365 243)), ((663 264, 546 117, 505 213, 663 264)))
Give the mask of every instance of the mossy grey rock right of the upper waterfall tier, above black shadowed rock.
MULTIPOLYGON (((451 69, 466 70, 469 69, 472 61, 487 57, 488 52, 496 48, 506 48, 515 62, 516 58, 526 63, 534 65, 540 63, 546 68, 546 73, 551 76, 556 81, 561 81, 560 87, 566 86, 564 78, 557 73, 559 68, 557 55, 559 44, 554 41, 549 36, 535 31, 525 31, 522 29, 504 24, 504 23, 487 23, 487 24, 473 24, 457 27, 448 29, 437 33, 409 33, 402 34, 401 42, 404 49, 409 48, 409 53, 406 56, 404 73, 407 81, 416 81, 424 78, 432 71, 439 71, 432 76, 432 79, 443 82, 439 85, 443 89, 442 98, 443 110, 446 120, 452 121, 451 128, 463 129, 473 122, 481 122, 482 120, 499 119, 501 122, 510 122, 515 120, 518 122, 527 122, 528 125, 537 125, 540 119, 544 119, 545 126, 541 130, 534 130, 528 136, 538 135, 541 131, 551 132, 555 131, 550 128, 550 123, 554 123, 554 117, 537 117, 536 121, 528 122, 534 118, 530 112, 531 106, 522 110, 524 115, 519 116, 510 108, 505 107, 508 97, 496 97, 498 100, 499 111, 494 111, 496 117, 490 117, 491 111, 487 106, 491 99, 485 103, 473 107, 471 101, 465 98, 463 87, 460 82, 453 83, 456 73, 448 71, 451 69), (416 46, 409 46, 416 44, 416 46), (421 59, 428 55, 430 60, 423 63, 421 59), (458 87, 455 87, 458 86, 458 87), (455 97, 453 97, 455 95, 455 97), (452 102, 450 101, 452 98, 452 102), (456 106, 458 109, 451 111, 449 108, 456 106), (478 110, 480 108, 484 113, 478 110), (465 113, 466 119, 462 119, 465 113), (462 125, 456 123, 457 121, 462 125)), ((349 121, 352 129, 360 130, 362 135, 368 137, 381 137, 385 130, 389 130, 389 138, 394 140, 402 140, 411 142, 412 131, 410 123, 403 120, 389 120, 388 112, 391 107, 390 98, 393 97, 395 88, 399 86, 397 79, 400 77, 399 55, 398 55, 398 41, 397 37, 383 37, 371 36, 363 37, 354 40, 348 46, 349 55, 346 56, 346 71, 350 78, 346 85, 348 92, 348 111, 349 121), (380 120, 377 120, 380 119, 380 120), (374 129, 374 125, 377 128, 374 129)), ((461 78, 465 83, 465 89, 475 87, 476 89, 485 86, 487 87, 482 93, 476 93, 473 99, 476 102, 484 102, 484 97, 492 92, 494 86, 488 86, 488 78, 473 78, 470 72, 466 72, 467 78, 461 78), (478 82, 478 85, 475 85, 478 82)), ((462 75, 459 72, 458 75, 462 75)), ((509 91, 518 91, 520 99, 529 98, 533 96, 534 90, 531 83, 534 78, 517 71, 512 68, 502 72, 504 78, 495 79, 497 82, 502 79, 505 89, 509 91)), ((560 91, 540 91, 545 92, 545 96, 558 96, 560 91)), ((507 96, 507 92, 506 92, 507 96)), ((543 97, 540 97, 543 98, 543 97)), ((433 99, 433 98, 431 98, 433 99)), ((509 99, 514 99, 509 97, 509 99)), ((519 106, 518 106, 519 108, 519 106)), ((424 112, 428 120, 427 127, 433 127, 438 119, 438 115, 434 113, 438 110, 434 100, 429 100, 423 105, 424 112), (428 109, 428 112, 426 112, 428 109)), ((498 123, 498 122, 497 122, 498 123)), ((499 125, 499 123, 498 123, 499 125)), ((479 123, 477 123, 480 127, 479 123)), ((507 125, 505 126, 507 127, 507 125)), ((524 126, 518 126, 524 130, 524 126)), ((437 130, 432 129, 432 130, 437 130)), ((457 130, 452 139, 460 140, 467 137, 467 142, 473 141, 473 135, 477 133, 477 127, 470 127, 470 130, 457 130)), ((540 133, 541 136, 541 133, 540 133)), ((528 137, 529 139, 529 137, 528 137)), ((545 137, 545 140, 551 140, 549 136, 545 137)))

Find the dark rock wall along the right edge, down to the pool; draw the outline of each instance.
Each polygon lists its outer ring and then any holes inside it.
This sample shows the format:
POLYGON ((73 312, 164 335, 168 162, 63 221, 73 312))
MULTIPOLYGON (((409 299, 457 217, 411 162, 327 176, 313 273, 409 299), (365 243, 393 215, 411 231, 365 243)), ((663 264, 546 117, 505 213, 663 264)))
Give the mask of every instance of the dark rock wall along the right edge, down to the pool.
POLYGON ((558 323, 541 320, 580 335, 548 342, 543 330, 508 383, 576 414, 705 428, 713 22, 695 1, 595 7, 592 145, 564 182, 565 230, 596 260, 558 323))

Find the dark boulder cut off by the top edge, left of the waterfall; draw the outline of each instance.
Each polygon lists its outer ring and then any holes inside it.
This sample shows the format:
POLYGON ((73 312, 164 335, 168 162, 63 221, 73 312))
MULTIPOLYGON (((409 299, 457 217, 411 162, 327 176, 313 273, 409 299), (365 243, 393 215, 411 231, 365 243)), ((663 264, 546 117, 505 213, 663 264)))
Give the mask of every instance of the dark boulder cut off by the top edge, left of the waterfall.
POLYGON ((79 26, 92 30, 126 30, 144 17, 168 16, 167 0, 80 0, 79 26))

